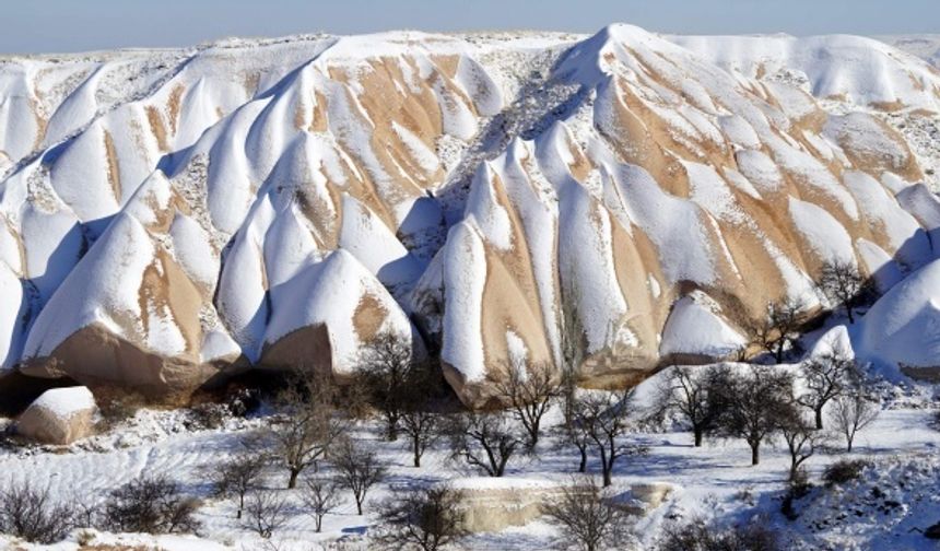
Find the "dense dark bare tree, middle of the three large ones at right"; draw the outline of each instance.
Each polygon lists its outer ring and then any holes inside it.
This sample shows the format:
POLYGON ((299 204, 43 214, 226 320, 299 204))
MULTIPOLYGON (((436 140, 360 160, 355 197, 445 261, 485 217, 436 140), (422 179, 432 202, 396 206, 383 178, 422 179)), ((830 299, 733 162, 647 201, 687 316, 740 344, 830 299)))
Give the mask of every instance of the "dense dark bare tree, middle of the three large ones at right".
POLYGON ((750 365, 747 374, 729 375, 728 405, 719 431, 743 438, 751 447, 751 465, 761 462, 761 444, 780 429, 790 397, 792 377, 774 367, 750 365))

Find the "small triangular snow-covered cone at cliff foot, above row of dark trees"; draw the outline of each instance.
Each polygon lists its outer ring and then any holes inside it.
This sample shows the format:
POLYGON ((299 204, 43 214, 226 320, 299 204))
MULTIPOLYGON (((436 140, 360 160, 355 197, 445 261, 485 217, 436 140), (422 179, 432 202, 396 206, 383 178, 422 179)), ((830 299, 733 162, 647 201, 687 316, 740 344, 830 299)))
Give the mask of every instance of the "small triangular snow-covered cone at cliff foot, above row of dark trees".
POLYGON ((696 291, 673 303, 662 329, 659 353, 720 360, 744 345, 747 339, 721 319, 715 301, 696 291))

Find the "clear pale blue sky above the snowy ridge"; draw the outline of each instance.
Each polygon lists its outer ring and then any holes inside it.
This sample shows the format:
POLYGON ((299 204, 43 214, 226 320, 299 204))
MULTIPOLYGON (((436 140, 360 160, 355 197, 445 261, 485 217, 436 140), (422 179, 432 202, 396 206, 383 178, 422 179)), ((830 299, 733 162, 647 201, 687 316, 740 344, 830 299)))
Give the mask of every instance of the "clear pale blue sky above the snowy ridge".
POLYGON ((0 0, 0 52, 188 46, 409 28, 679 34, 940 33, 940 0, 0 0))

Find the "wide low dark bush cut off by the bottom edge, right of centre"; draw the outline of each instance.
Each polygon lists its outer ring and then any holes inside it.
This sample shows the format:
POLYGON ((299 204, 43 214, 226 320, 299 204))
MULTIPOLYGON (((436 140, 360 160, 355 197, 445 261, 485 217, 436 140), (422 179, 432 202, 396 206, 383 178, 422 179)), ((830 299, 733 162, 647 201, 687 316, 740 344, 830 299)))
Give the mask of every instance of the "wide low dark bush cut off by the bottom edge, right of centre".
POLYGON ((659 551, 778 551, 776 532, 760 524, 719 529, 702 520, 666 530, 659 551))

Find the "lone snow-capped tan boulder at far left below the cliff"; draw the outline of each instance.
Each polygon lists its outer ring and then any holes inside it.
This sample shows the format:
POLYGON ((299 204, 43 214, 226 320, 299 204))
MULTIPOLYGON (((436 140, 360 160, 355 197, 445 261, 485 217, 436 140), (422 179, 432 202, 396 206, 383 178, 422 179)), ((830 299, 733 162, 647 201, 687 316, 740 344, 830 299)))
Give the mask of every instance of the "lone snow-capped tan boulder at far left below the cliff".
POLYGON ((16 421, 16 432, 43 444, 68 445, 90 436, 97 414, 87 387, 46 390, 16 421))

